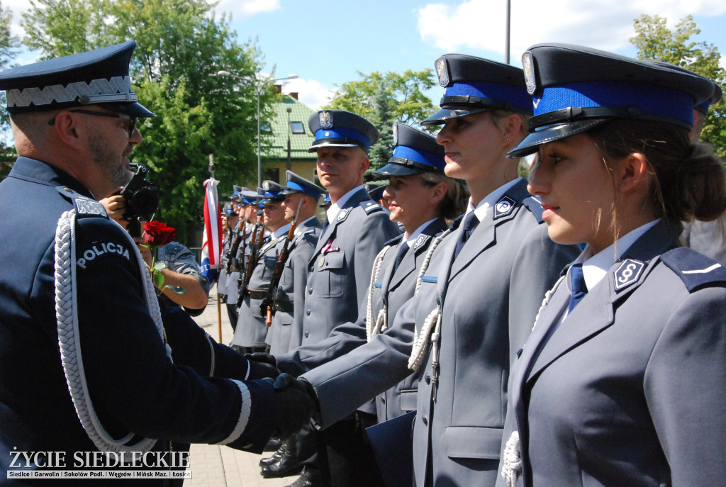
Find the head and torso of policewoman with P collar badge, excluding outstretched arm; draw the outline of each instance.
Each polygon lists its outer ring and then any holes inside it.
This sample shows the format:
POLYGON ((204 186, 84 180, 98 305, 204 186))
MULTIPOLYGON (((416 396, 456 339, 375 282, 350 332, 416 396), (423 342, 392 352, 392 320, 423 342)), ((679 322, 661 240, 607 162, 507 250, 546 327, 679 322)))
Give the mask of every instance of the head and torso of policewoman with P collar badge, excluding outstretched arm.
POLYGON ((434 66, 446 175, 471 194, 436 246, 404 319, 417 326, 409 366, 420 371, 413 459, 417 486, 494 486, 515 351, 542 295, 576 247, 547 238, 542 206, 507 158, 526 135, 531 98, 522 70, 462 54, 434 66))

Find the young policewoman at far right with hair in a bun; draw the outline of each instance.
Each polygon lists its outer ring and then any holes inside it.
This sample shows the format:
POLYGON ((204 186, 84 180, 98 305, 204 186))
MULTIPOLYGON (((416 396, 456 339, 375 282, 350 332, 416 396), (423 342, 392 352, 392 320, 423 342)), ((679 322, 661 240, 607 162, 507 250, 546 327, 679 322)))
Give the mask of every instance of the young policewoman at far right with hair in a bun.
POLYGON ((525 486, 722 485, 726 271, 677 247, 726 208, 691 145, 707 80, 577 46, 523 57, 536 113, 512 154, 552 240, 587 247, 547 293, 513 368, 503 475, 525 486), (518 458, 520 457, 520 458, 518 458))

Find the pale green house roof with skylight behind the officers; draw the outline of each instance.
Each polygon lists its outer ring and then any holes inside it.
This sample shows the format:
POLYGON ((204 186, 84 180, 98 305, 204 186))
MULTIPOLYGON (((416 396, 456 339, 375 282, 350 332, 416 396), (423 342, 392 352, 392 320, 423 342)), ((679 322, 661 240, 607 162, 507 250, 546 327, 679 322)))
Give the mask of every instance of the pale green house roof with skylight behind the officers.
POLYGON ((270 120, 272 134, 266 132, 263 135, 263 155, 269 159, 287 160, 287 137, 290 137, 290 158, 292 160, 314 158, 308 149, 312 145, 315 136, 310 133, 308 119, 316 110, 304 105, 290 95, 282 95, 282 102, 276 103, 272 108, 273 115, 270 120), (290 108, 288 116, 287 109, 290 108), (294 124, 299 122, 299 124, 294 124), (294 124, 297 129, 302 128, 302 134, 293 134, 290 125, 294 124))

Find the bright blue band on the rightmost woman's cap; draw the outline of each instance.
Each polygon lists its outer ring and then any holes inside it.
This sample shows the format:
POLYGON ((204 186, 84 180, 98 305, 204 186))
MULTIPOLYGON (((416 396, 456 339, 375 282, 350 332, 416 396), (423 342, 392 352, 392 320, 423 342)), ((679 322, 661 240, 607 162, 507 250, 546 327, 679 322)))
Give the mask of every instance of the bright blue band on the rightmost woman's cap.
POLYGON ((594 81, 545 88, 534 98, 534 115, 568 107, 640 107, 644 113, 693 124, 693 98, 689 94, 645 83, 594 81))

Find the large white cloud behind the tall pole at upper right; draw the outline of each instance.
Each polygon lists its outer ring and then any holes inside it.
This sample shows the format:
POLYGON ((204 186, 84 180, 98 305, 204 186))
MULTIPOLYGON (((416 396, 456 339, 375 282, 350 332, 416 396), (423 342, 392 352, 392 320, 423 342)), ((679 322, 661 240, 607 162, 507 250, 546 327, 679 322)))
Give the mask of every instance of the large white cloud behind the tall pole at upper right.
MULTIPOLYGON (((635 0, 587 2, 559 0, 542 7, 541 0, 512 1, 510 62, 532 44, 559 42, 614 51, 629 46, 633 20, 642 14, 666 17, 670 25, 686 15, 726 12, 722 0, 635 0), (587 7, 584 7, 586 5, 587 7)), ((455 6, 427 4, 417 11, 423 41, 443 52, 481 49, 505 52, 505 0, 468 0, 455 6)), ((442 54, 443 54, 442 52, 442 54)))

